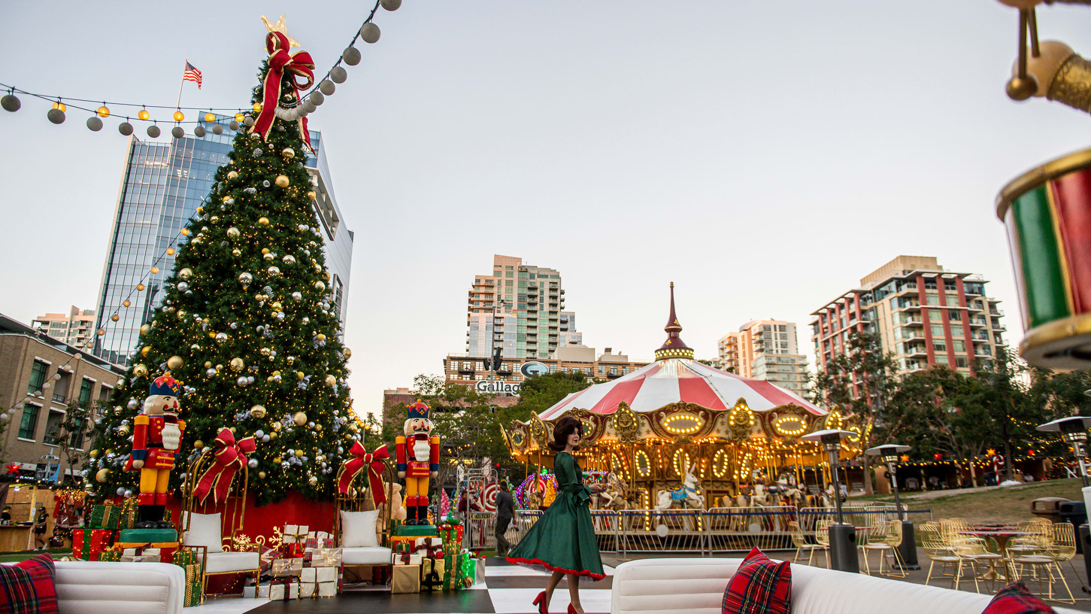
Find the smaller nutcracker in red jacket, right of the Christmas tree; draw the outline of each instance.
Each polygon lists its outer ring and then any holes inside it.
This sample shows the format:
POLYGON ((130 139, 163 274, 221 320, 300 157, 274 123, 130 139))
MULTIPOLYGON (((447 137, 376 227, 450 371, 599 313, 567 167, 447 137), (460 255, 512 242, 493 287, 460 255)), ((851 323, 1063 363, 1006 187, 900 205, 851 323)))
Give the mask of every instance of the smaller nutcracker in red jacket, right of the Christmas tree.
POLYGON ((405 435, 394 440, 398 477, 405 477, 406 524, 428 524, 428 479, 440 474, 440 438, 432 435, 429 408, 406 405, 405 435))

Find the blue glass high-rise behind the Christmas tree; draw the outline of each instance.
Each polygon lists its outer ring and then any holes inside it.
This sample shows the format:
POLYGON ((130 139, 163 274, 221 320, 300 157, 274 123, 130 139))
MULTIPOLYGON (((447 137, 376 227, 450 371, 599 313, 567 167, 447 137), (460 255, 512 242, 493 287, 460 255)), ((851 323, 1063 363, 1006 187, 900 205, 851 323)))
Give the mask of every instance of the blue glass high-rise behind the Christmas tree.
MULTIPOLYGON (((213 125, 202 122, 206 132, 201 138, 189 134, 169 143, 130 138, 98 297, 95 329, 106 333, 94 340, 96 356, 124 364, 132 355, 140 327, 163 300, 163 282, 175 268, 175 257, 165 252, 177 247, 179 232, 208 196, 216 169, 230 155, 235 139, 235 131, 227 127, 230 119, 219 118, 223 134, 214 134, 213 125), (149 274, 153 264, 158 272, 149 274), (110 321, 113 314, 119 317, 117 322, 110 321)), ((325 239, 329 293, 344 324, 353 234, 345 227, 334 198, 322 134, 312 130, 311 143, 316 155, 307 155, 300 164, 311 174, 314 209, 325 239)))

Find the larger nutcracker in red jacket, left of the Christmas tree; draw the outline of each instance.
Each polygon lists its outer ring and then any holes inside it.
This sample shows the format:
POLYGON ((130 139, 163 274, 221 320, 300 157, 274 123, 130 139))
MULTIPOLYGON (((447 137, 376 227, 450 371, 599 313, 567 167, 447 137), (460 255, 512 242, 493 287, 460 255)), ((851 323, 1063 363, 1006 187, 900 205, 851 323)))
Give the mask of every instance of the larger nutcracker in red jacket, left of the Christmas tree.
POLYGON ((144 399, 144 411, 133 418, 133 450, 125 471, 140 470, 140 495, 136 497, 137 529, 172 529, 163 519, 167 505, 167 482, 178 461, 185 422, 178 420, 182 382, 159 376, 144 399))

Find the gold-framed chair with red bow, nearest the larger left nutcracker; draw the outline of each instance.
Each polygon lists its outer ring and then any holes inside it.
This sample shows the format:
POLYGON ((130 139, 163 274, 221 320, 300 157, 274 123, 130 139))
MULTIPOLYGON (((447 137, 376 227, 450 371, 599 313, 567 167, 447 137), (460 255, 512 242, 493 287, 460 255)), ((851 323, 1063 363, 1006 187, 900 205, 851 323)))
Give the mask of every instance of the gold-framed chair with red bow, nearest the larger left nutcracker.
MULTIPOLYGON (((182 530, 179 534, 180 550, 192 550, 197 553, 201 563, 201 601, 204 602, 208 595, 208 576, 226 576, 245 574, 254 576, 254 598, 257 597, 257 586, 261 576, 261 553, 265 545, 264 535, 259 535, 251 540, 242 533, 242 521, 247 511, 247 488, 250 481, 250 469, 247 463, 238 470, 227 498, 223 501, 213 501, 212 496, 205 503, 197 500, 194 488, 205 470, 216 463, 215 451, 209 448, 189 464, 185 471, 185 481, 182 484, 182 518, 179 524, 182 530), (200 515, 220 515, 219 540, 220 544, 197 543, 194 535, 187 539, 187 533, 193 527, 193 521, 200 515), (187 544, 185 542, 190 543, 187 544), (216 546, 221 548, 216 552, 216 546), (212 551, 212 552, 209 552, 212 551), (209 571, 212 569, 212 571, 209 571)), ((194 531, 194 533, 196 533, 194 531)))

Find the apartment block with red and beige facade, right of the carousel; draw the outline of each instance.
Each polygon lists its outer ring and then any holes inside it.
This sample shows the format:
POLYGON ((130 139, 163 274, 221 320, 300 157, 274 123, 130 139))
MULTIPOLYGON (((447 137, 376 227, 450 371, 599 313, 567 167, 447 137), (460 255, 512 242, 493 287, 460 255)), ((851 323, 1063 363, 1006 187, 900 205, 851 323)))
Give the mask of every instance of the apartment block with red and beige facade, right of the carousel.
POLYGON ((877 333, 899 374, 933 365, 970 373, 974 361, 991 364, 1007 342, 1004 311, 985 295, 986 283, 980 274, 944 269, 934 257, 899 256, 811 314, 817 366, 843 354, 855 331, 877 333))

